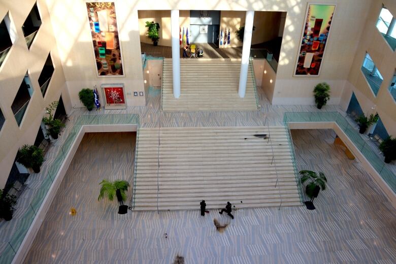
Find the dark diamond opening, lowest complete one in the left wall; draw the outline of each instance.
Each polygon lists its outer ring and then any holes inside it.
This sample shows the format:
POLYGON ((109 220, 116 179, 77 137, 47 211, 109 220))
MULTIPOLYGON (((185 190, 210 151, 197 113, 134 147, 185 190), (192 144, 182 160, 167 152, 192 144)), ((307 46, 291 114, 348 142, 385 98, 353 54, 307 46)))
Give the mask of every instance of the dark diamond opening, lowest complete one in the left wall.
POLYGON ((25 115, 27 105, 30 102, 30 97, 33 93, 33 89, 31 87, 29 76, 25 75, 23 77, 22 83, 19 86, 19 90, 15 95, 14 102, 12 102, 11 109, 14 113, 15 120, 18 125, 22 123, 23 116, 25 115))

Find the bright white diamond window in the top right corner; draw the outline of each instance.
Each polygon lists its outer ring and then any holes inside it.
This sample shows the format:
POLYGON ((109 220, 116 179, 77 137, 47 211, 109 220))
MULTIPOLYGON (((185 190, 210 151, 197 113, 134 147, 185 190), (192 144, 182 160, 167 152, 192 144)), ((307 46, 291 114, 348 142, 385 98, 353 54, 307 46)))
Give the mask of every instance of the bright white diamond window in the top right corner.
POLYGON ((394 51, 396 49, 396 19, 386 7, 381 9, 377 20, 377 28, 394 51))

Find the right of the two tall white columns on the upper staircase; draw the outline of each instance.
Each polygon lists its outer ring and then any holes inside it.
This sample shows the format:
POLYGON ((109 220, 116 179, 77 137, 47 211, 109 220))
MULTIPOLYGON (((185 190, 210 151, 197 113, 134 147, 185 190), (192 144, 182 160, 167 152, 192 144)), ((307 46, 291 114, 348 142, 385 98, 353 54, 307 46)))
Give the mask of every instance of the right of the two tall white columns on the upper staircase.
POLYGON ((246 93, 246 82, 247 82, 247 73, 249 69, 249 57, 250 57, 250 44, 252 43, 253 18, 254 18, 254 11, 246 11, 245 32, 243 36, 243 47, 242 47, 241 73, 239 75, 239 89, 238 89, 239 96, 242 98, 245 97, 245 93, 246 93))

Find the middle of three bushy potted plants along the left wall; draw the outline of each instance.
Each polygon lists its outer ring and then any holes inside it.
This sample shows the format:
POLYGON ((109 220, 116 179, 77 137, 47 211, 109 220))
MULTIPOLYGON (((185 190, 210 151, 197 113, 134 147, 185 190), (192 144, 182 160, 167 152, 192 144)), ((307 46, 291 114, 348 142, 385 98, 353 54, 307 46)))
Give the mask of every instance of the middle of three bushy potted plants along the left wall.
POLYGON ((40 166, 44 162, 43 150, 35 145, 23 145, 18 150, 18 162, 26 168, 31 168, 35 173, 40 172, 40 166))

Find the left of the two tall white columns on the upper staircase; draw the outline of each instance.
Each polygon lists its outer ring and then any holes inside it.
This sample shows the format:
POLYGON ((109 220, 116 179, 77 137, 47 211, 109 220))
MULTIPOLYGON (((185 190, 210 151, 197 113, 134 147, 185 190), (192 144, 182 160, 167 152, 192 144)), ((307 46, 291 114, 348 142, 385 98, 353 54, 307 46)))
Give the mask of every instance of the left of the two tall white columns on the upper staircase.
POLYGON ((171 10, 173 96, 180 96, 179 10, 171 10))

